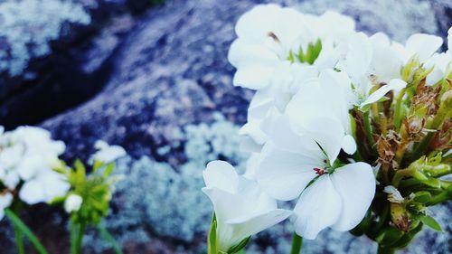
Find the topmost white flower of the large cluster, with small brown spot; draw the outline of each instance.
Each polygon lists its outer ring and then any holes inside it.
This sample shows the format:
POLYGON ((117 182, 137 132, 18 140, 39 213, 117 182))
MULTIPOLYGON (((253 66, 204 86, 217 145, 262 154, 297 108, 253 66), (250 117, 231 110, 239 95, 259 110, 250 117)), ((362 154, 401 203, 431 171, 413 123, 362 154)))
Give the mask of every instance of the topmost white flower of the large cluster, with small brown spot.
MULTIPOLYGON (((243 14, 236 25, 238 39, 232 42, 228 55, 237 68, 234 85, 258 90, 270 84, 279 86, 274 78, 279 69, 291 63, 290 53, 297 54, 300 48, 306 52, 309 43, 321 39, 321 34, 309 28, 309 22, 305 15, 279 5, 258 5, 243 14)), ((320 58, 321 65, 333 62, 322 57, 322 52, 320 58)), ((299 63, 297 57, 293 61, 299 63)))

